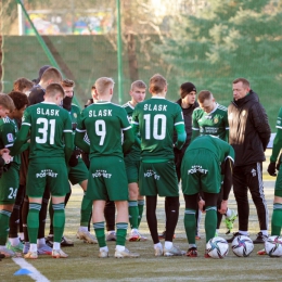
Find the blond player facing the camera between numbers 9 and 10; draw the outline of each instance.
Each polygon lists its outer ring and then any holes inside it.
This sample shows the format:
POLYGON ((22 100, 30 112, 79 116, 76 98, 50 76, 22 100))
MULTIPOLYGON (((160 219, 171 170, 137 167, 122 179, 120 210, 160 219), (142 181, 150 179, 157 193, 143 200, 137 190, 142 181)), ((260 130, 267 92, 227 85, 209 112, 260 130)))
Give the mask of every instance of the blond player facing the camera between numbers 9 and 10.
MULTIPOLYGON (((136 80, 131 84, 130 95, 131 101, 124 105, 127 112, 129 120, 131 121, 134 106, 143 102, 145 99, 146 85, 142 80, 136 80)), ((128 154, 125 155, 126 172, 128 179, 129 201, 128 201, 128 213, 129 222, 131 227, 131 233, 129 241, 145 241, 146 238, 139 233, 139 225, 142 219, 144 196, 139 193, 139 167, 140 167, 141 149, 140 144, 133 144, 132 149, 128 154)))

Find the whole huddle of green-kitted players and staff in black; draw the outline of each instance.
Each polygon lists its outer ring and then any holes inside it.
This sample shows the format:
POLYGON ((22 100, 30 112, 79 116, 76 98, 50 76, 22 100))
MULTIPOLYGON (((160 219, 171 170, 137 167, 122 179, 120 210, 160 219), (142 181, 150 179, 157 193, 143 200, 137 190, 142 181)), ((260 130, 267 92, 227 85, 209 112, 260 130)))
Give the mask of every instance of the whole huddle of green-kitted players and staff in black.
MULTIPOLYGON (((84 190, 77 238, 98 243, 100 258, 108 257, 107 241, 116 241, 115 257, 139 257, 125 245, 128 226, 129 241, 148 240, 139 232, 144 197, 155 256, 197 257, 203 213, 206 242, 218 236, 222 216, 228 233, 239 218, 239 231, 227 242, 248 238, 248 189, 260 227, 253 243, 268 239, 261 167, 271 131, 246 79, 233 81, 234 100, 227 108, 207 90, 201 91, 196 101, 192 82, 180 86, 178 101, 168 101, 167 81, 159 74, 150 79, 150 99, 144 100, 146 85, 137 80, 130 88, 131 100, 119 106, 111 102, 113 79, 101 77, 81 112, 72 103, 74 81, 63 80, 56 68, 44 66, 36 84, 28 82, 18 79, 11 93, 0 94, 0 256, 67 257, 62 247, 74 245, 64 236, 69 182, 84 190), (180 180, 187 252, 172 243, 180 180), (228 208, 232 185, 238 211, 228 208), (157 196, 165 197, 166 229, 161 234, 157 196), (50 198, 50 231, 46 236, 50 198), (90 233, 90 222, 95 236, 90 233)), ((282 148, 281 116, 280 112, 268 167, 272 176, 279 169, 282 148)), ((271 235, 277 236, 282 226, 281 177, 279 174, 271 221, 271 235)), ((209 249, 205 257, 210 257, 209 249)))

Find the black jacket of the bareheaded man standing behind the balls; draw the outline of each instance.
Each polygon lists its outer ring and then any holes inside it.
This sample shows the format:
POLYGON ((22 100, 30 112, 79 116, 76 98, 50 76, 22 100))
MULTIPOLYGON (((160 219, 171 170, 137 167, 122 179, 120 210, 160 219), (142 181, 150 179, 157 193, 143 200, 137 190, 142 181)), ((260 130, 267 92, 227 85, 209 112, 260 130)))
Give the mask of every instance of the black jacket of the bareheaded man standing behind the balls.
POLYGON ((229 143, 235 151, 235 166, 266 161, 265 151, 271 130, 258 95, 249 94, 232 101, 228 107, 229 143))

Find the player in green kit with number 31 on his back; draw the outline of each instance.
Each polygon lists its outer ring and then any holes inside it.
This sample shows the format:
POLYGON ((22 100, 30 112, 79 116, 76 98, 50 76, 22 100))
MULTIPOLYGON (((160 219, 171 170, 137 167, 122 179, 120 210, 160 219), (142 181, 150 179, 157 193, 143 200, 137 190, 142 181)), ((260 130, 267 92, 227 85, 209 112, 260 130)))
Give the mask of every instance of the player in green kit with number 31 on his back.
POLYGON ((30 130, 30 153, 27 172, 26 194, 29 200, 27 229, 30 242, 25 258, 37 258, 37 235, 39 210, 44 189, 50 188, 54 209, 54 243, 52 256, 65 258, 61 240, 65 225, 65 194, 68 192, 66 164, 73 152, 73 130, 69 114, 59 105, 64 98, 59 84, 46 88, 44 102, 27 107, 18 136, 11 150, 16 155, 28 139, 30 130))

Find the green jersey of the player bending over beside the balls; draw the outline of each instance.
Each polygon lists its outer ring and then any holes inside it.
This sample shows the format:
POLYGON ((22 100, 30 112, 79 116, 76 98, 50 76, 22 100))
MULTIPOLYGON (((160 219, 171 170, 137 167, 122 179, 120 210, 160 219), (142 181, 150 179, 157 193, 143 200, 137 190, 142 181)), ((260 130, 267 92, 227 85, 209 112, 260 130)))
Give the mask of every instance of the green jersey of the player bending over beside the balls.
MULTIPOLYGON (((193 150, 208 150, 216 156, 216 159, 221 164, 227 158, 230 158, 234 163, 234 150, 226 141, 214 136, 201 136, 193 140, 185 151, 185 155, 189 158, 189 152, 193 150)), ((209 162, 209 161, 208 161, 209 162)))

